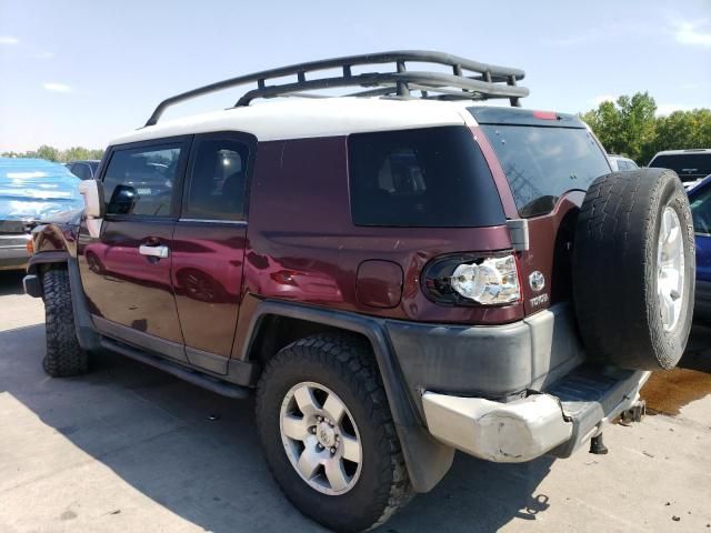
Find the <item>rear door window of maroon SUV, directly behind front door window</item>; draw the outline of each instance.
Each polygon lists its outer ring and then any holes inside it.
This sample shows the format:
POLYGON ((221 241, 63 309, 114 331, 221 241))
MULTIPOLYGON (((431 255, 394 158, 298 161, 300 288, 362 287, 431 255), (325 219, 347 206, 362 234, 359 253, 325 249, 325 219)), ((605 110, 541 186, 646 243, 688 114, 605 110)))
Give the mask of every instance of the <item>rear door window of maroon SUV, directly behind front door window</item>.
POLYGON ((198 143, 182 215, 242 220, 248 148, 232 139, 198 143))

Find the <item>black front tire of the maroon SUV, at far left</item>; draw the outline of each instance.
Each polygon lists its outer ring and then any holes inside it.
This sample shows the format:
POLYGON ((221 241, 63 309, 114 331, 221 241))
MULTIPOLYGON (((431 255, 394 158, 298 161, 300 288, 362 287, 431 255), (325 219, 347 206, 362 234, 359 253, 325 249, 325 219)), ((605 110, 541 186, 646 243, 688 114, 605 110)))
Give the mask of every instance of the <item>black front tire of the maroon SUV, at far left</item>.
POLYGON ((89 369, 89 356, 77 340, 67 269, 44 272, 42 292, 47 332, 42 368, 53 378, 83 374, 89 369))

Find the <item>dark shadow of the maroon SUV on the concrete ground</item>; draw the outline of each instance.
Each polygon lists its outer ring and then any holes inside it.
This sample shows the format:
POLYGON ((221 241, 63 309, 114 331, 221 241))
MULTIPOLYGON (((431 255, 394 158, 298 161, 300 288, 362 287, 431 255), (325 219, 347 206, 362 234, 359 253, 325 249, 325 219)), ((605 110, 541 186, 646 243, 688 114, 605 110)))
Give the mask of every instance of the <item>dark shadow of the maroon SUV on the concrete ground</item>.
MULTIPOLYGON (((94 356, 84 376, 48 379, 43 342, 43 324, 0 332, 0 346, 7 346, 0 351, 0 392, 133 489, 214 533, 323 531, 272 481, 252 400, 224 399, 110 353, 94 356)), ((382 531, 475 533, 537 520, 550 505, 537 487, 552 463, 492 464, 459 454, 445 479, 382 531)))

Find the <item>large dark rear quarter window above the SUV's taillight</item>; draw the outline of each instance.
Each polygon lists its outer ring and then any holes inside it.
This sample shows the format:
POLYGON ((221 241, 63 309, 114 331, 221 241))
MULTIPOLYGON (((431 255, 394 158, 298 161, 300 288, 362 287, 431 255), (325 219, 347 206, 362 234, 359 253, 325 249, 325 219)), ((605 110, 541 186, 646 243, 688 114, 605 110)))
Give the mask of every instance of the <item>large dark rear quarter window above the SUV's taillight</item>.
POLYGON ((505 223, 489 167, 464 127, 354 133, 348 147, 356 225, 505 223))

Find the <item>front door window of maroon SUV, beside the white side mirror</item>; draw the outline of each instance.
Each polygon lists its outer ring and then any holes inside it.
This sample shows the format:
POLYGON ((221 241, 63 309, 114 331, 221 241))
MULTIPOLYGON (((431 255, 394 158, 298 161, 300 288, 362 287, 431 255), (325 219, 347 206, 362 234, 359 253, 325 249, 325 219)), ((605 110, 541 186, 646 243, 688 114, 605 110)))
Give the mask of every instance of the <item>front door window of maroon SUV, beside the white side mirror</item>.
POLYGON ((179 144, 117 150, 103 178, 108 214, 170 215, 179 144))

